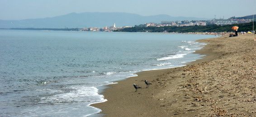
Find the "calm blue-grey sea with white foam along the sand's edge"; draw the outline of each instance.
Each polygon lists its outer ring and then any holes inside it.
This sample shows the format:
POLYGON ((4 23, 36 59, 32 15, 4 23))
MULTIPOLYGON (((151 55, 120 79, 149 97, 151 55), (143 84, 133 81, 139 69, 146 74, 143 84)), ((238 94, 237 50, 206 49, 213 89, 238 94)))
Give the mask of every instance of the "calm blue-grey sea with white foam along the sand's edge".
MULTIPOLYGON (((88 116, 99 86, 198 59, 209 35, 0 30, 0 116, 88 116)), ((133 88, 131 87, 128 88, 133 88)))

